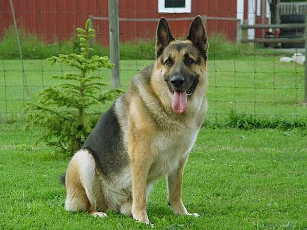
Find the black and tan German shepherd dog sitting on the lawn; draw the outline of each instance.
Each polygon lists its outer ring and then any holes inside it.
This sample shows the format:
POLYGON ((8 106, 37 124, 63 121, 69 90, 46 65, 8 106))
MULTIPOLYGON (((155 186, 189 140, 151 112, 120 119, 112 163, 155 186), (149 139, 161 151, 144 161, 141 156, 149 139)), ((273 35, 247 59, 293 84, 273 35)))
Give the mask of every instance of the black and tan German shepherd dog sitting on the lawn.
POLYGON ((200 16, 186 40, 159 20, 155 64, 131 80, 69 163, 66 210, 99 217, 117 210, 148 224, 147 195, 166 176, 174 213, 198 216, 182 202, 182 180, 207 110, 207 48, 200 16))

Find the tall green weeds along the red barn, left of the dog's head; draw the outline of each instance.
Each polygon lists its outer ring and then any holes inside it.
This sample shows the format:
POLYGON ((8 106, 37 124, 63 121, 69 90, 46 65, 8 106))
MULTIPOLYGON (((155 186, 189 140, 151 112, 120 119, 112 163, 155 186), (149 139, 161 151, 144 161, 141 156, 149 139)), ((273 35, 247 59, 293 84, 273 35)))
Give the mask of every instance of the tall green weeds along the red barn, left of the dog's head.
MULTIPOLYGON (((25 59, 45 59, 59 53, 77 53, 79 50, 78 40, 71 38, 67 41, 47 44, 38 39, 34 34, 27 33, 23 28, 18 29, 21 51, 25 59)), ((3 59, 18 59, 19 51, 17 47, 15 30, 9 27, 0 43, 0 56, 3 59)), ((108 56, 109 48, 103 47, 94 42, 92 55, 108 56)), ((120 57, 126 59, 155 59, 155 41, 128 41, 120 43, 120 57)))

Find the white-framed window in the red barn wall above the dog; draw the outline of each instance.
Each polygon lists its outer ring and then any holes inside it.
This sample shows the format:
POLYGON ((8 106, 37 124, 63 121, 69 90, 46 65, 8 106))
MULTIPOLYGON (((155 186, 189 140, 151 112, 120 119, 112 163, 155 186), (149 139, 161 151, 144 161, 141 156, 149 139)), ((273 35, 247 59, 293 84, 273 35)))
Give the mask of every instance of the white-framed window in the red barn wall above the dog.
POLYGON ((158 0, 159 13, 191 13, 191 0, 158 0))

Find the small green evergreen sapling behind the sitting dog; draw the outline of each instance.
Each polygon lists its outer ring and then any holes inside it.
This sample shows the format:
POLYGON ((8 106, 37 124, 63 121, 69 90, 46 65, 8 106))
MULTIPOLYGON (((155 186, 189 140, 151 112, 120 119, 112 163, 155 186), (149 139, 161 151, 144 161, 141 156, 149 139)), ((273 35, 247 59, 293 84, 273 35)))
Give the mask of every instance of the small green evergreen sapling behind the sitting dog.
POLYGON ((95 111, 93 105, 112 101, 122 93, 121 89, 99 93, 101 86, 106 85, 101 82, 102 77, 89 76, 90 72, 100 68, 113 67, 108 57, 89 57, 93 51, 89 47, 90 39, 95 37, 89 19, 86 20, 85 29, 77 28, 77 33, 81 54, 59 54, 47 59, 51 65, 64 63, 74 67, 77 72, 53 76, 63 83, 43 89, 39 100, 29 103, 25 109, 26 129, 35 125, 45 128, 41 140, 70 153, 82 147, 97 123, 101 111, 95 111))

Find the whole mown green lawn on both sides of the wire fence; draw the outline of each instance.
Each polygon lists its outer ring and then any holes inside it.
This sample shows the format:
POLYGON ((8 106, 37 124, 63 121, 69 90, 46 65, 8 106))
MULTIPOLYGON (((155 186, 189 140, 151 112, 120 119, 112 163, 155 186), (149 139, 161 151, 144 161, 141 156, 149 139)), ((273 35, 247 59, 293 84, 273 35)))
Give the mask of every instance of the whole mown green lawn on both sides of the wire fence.
MULTIPOLYGON (((258 117, 292 119, 306 116, 302 66, 279 57, 247 56, 208 62, 208 120, 233 109, 258 117)), ((121 87, 146 60, 121 61, 121 87)), ((60 83, 51 76, 71 71, 45 60, 26 60, 29 96, 20 62, 0 64, 0 116, 22 114, 43 87, 60 83)), ((101 71, 110 82, 109 71, 101 71)), ((106 86, 101 90, 109 88, 106 86)), ((109 105, 101 107, 104 111, 109 105)), ((59 175, 70 157, 35 141, 43 130, 23 131, 24 123, 0 117, 1 229, 140 229, 148 228, 116 212, 107 219, 64 211, 65 188, 59 175)), ((22 116, 20 117, 22 118, 22 116)), ((307 130, 203 127, 189 157, 183 200, 199 218, 174 215, 167 206, 165 179, 148 199, 149 219, 156 229, 307 229, 307 130)))

